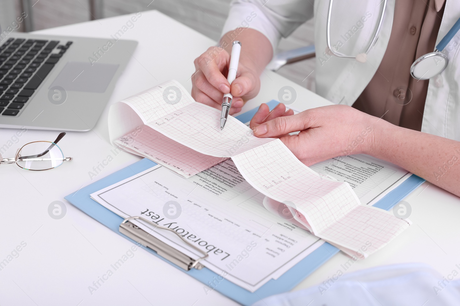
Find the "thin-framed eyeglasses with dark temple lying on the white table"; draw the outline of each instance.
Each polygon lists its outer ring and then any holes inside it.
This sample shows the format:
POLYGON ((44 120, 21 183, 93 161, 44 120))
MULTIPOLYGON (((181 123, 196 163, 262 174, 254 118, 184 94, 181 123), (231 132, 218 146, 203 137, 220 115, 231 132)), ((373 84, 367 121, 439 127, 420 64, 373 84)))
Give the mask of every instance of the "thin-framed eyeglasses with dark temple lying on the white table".
POLYGON ((54 142, 51 141, 34 141, 23 145, 16 151, 13 158, 3 159, 0 155, 0 164, 17 164, 17 166, 26 170, 48 170, 61 166, 64 161, 72 160, 72 157, 64 157, 61 148, 57 142, 64 137, 65 133, 57 136, 54 142))

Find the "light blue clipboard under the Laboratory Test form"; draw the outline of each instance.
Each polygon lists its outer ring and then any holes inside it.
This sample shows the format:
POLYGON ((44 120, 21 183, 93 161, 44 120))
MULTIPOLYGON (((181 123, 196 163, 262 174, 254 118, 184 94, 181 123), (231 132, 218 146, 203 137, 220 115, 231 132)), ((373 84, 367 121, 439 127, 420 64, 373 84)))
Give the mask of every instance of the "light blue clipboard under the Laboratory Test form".
MULTIPOLYGON (((273 109, 279 102, 276 100, 271 100, 267 103, 270 107, 270 110, 273 109)), ((236 117, 241 122, 248 122, 257 111, 257 108, 247 111, 242 115, 236 117)), ((126 239, 135 242, 134 240, 128 238, 124 234, 119 232, 120 223, 123 221, 123 218, 100 205, 95 200, 90 198, 90 195, 93 192, 96 192, 100 189, 103 189, 112 184, 118 183, 123 179, 129 178, 139 172, 149 169, 150 167, 155 166, 156 163, 150 161, 147 158, 144 158, 140 161, 135 162, 134 164, 123 168, 115 173, 110 174, 109 176, 102 178, 84 188, 81 188, 74 193, 67 195, 64 199, 68 200, 72 205, 79 208, 81 211, 85 212, 88 216, 97 220, 99 223, 104 224, 106 227, 113 230, 115 233, 125 237, 126 239)), ((402 184, 400 184, 396 189, 392 190, 390 193, 385 195, 380 201, 378 201, 374 206, 390 210, 394 205, 396 205, 400 200, 405 196, 411 193, 416 189, 420 184, 425 182, 423 178, 420 178, 416 175, 412 175, 402 184)), ((249 306, 255 303, 256 301, 263 299, 270 295, 276 295, 283 292, 287 292, 293 289, 297 284, 304 280, 308 275, 320 267, 324 262, 328 261, 332 256, 339 252, 339 249, 328 244, 324 243, 322 246, 314 250, 310 255, 305 257, 302 261, 296 264, 294 267, 289 269, 278 279, 271 279, 261 288, 257 289, 254 293, 249 292, 247 289, 244 289, 236 284, 231 283, 230 281, 224 279, 220 281, 219 275, 212 272, 206 267, 201 270, 191 269, 190 271, 185 271, 182 268, 176 266, 172 262, 164 259, 159 256, 154 250, 143 247, 148 252, 153 255, 160 257, 162 260, 167 261, 169 264, 177 267, 182 270, 184 273, 189 274, 191 277, 196 278, 201 283, 208 285, 208 282, 215 282, 215 279, 219 279, 219 284, 215 286, 214 290, 220 292, 221 294, 229 297, 236 302, 249 306)), ((209 287, 213 289, 213 287, 209 287)))

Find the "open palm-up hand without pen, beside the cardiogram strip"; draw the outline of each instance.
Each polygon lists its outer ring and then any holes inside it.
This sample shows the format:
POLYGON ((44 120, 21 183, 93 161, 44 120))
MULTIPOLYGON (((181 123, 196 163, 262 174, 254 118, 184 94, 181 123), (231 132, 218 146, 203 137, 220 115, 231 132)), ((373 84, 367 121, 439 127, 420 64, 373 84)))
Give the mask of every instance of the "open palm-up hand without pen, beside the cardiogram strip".
POLYGON ((250 127, 257 137, 281 139, 300 161, 310 166, 337 156, 372 155, 376 133, 383 130, 382 125, 390 124, 378 119, 345 105, 322 106, 294 115, 282 103, 271 112, 262 104, 250 127), (298 131, 297 135, 289 135, 298 131))

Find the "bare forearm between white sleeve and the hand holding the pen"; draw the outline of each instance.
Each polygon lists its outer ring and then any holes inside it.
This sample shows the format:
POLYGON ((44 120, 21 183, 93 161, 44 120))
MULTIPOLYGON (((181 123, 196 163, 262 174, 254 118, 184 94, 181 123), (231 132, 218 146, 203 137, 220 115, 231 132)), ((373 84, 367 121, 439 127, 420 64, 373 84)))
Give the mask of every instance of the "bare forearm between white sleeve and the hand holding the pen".
POLYGON ((239 40, 242 50, 240 62, 260 75, 273 57, 273 48, 270 41, 257 30, 251 28, 240 29, 242 29, 241 33, 236 29, 224 34, 220 39, 219 45, 230 54, 233 41, 239 40))

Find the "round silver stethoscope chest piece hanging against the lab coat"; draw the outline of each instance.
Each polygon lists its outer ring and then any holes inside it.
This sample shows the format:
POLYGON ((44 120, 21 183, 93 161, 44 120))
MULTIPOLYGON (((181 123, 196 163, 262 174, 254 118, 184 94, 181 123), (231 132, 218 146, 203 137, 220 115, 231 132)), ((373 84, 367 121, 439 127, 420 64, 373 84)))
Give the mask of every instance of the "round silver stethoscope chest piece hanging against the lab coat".
POLYGON ((447 56, 439 51, 425 54, 414 61, 410 75, 419 80, 427 80, 443 72, 448 62, 447 56))

